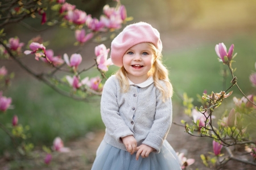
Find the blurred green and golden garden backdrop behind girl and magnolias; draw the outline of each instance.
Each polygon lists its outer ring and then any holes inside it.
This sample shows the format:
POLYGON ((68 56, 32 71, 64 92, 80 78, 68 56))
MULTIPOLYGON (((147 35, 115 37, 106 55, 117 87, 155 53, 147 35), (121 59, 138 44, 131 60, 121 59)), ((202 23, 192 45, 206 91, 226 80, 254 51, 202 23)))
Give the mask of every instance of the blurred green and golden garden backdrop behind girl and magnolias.
MULTIPOLYGON (((67 2, 97 18, 102 14, 102 7, 106 3, 112 7, 116 3, 110 0, 67 2)), ((234 44, 234 53, 238 54, 234 59, 236 63, 233 63, 233 68, 237 68, 234 74, 238 78, 238 84, 245 94, 255 94, 249 75, 256 71, 256 1, 121 0, 121 3, 126 7, 127 16, 134 17, 134 20, 127 24, 143 21, 150 23, 160 32, 164 64, 170 71, 170 80, 175 88, 174 121, 179 123, 180 119, 184 118, 179 95, 182 96, 186 92, 189 97, 196 97, 196 94, 201 96, 204 90, 216 93, 230 86, 231 75, 228 74, 225 84, 222 77, 223 70, 228 67, 218 62, 214 50, 218 43, 223 42, 227 48, 234 44)), ((40 19, 25 19, 23 23, 8 25, 5 31, 8 38, 18 36, 20 42, 24 43, 36 35, 41 35, 44 41, 50 42, 47 48, 53 49, 56 55, 63 56, 68 53, 68 56, 71 56, 79 48, 73 45, 76 41, 75 32, 68 28, 56 26, 36 32, 31 31, 31 27, 37 30, 47 28, 46 25, 40 26, 40 19)), ((117 30, 115 34, 122 29, 117 30)), ((111 40, 104 42, 107 48, 110 48, 110 43, 111 40)), ((83 60, 80 68, 89 67, 94 62, 96 45, 98 44, 91 42, 81 48, 83 60)), ((51 70, 41 61, 34 60, 32 55, 26 56, 22 61, 37 72, 51 70)), ((0 120, 3 123, 11 123, 13 115, 18 115, 22 125, 30 126, 30 142, 38 146, 51 146, 56 136, 60 136, 64 142, 69 142, 86 136, 90 131, 104 130, 100 116, 100 97, 93 102, 63 97, 23 71, 17 64, 11 61, 0 62, 0 67, 6 65, 9 72, 15 72, 12 86, 5 92, 5 96, 13 98, 15 109, 0 115, 0 120)), ((118 68, 110 66, 109 69, 108 76, 118 68)), ((59 75, 64 76, 63 73, 59 75)), ((96 75, 98 72, 92 69, 82 74, 82 77, 96 75)), ((233 96, 241 97, 236 87, 233 90, 233 96)), ((220 107, 220 113, 225 109, 230 110, 233 105, 232 98, 220 107)), ((194 104, 200 106, 196 99, 194 104)), ((187 141, 178 138, 180 134, 185 134, 183 128, 172 125, 169 135, 171 145, 176 151, 184 151, 185 148, 189 153, 191 150, 187 141), (174 140, 174 137, 179 141, 174 140)), ((11 147, 11 139, 1 130, 0 143, 0 154, 11 147)), ((193 151, 195 152, 196 148, 193 148, 193 151)))

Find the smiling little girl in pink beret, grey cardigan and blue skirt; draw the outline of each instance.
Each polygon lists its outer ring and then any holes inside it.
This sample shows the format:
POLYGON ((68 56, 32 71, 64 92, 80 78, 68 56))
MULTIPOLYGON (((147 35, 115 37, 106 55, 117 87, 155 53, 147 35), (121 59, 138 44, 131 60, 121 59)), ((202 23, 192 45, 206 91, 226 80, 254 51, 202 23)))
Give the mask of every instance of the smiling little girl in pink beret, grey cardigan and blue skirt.
POLYGON ((162 42, 150 24, 130 24, 113 40, 109 77, 101 97, 106 134, 94 170, 179 170, 165 140, 172 122, 172 85, 161 62, 162 42))

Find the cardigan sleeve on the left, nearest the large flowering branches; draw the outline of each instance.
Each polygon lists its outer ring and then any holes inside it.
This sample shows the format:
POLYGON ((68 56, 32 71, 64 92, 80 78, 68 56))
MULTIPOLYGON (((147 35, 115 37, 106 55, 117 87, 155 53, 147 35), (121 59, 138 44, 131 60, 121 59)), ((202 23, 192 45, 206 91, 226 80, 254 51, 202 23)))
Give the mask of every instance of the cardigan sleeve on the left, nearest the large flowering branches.
POLYGON ((119 106, 117 103, 117 81, 115 77, 109 77, 104 85, 101 96, 101 118, 106 126, 106 130, 117 142, 122 143, 120 138, 134 133, 126 125, 125 121, 119 115, 119 106))

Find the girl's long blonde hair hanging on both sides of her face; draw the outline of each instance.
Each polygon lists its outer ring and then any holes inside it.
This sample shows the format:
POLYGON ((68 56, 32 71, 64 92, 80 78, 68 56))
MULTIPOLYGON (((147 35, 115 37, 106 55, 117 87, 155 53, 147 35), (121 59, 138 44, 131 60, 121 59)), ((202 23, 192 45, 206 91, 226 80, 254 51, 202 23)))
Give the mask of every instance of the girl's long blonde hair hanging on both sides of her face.
MULTIPOLYGON (((162 100, 165 101, 165 99, 172 97, 173 94, 172 85, 168 78, 168 70, 162 64, 162 53, 159 51, 159 49, 157 49, 152 43, 147 44, 150 46, 154 53, 154 63, 152 64, 152 67, 148 73, 153 77, 154 84, 156 88, 158 88, 162 93, 162 100), (162 80, 166 86, 163 86, 160 83, 160 80, 162 80)), ((128 92, 130 85, 125 68, 122 66, 115 73, 115 75, 119 80, 122 93, 128 92)))

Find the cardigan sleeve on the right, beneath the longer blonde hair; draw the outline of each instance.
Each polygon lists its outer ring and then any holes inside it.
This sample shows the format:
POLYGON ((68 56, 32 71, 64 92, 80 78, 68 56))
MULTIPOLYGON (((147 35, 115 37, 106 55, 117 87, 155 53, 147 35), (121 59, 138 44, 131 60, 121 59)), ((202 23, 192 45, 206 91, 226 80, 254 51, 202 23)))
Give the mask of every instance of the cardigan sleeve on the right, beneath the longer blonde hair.
MULTIPOLYGON (((159 91, 159 90, 158 90, 159 91)), ((162 101, 162 94, 159 92, 156 97, 156 111, 154 123, 142 144, 155 148, 155 153, 160 152, 163 141, 166 139, 172 122, 172 102, 171 98, 162 101)))

